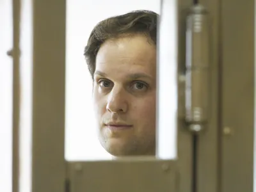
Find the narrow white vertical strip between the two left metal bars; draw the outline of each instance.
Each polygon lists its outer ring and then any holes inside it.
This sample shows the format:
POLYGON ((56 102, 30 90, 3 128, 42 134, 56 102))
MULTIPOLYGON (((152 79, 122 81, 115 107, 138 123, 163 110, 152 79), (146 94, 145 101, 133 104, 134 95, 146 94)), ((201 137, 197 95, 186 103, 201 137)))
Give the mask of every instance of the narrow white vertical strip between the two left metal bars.
POLYGON ((31 191, 32 158, 32 1, 22 0, 20 10, 20 165, 19 192, 31 191))

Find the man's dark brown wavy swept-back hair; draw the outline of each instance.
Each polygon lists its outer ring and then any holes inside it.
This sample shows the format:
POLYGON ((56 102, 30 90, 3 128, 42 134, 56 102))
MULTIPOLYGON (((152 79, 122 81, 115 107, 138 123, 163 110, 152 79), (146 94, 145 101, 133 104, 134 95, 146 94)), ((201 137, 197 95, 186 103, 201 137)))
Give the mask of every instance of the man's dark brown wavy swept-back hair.
POLYGON ((158 16, 155 12, 138 10, 116 17, 109 17, 99 22, 93 28, 84 49, 84 56, 92 78, 95 72, 97 52, 100 45, 106 40, 139 33, 146 35, 150 42, 156 45, 158 16))

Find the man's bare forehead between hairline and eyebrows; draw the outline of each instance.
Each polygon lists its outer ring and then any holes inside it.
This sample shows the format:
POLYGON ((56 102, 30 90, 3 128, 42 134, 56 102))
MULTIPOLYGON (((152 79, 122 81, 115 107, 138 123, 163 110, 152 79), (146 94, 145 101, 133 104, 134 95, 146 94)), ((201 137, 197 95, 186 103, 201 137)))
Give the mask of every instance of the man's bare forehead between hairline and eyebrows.
MULTIPOLYGON (((96 70, 106 74, 156 73, 156 46, 143 35, 107 40, 96 56, 96 70)), ((154 75, 155 76, 155 75, 154 75)))

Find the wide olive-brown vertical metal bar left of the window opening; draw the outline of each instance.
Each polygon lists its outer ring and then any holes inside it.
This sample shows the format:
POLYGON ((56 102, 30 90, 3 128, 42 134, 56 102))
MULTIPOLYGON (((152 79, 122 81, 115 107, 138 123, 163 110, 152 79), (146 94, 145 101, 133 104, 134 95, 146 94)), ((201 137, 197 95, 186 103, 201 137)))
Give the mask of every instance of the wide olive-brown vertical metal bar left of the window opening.
POLYGON ((66 1, 33 1, 32 191, 65 191, 66 1))

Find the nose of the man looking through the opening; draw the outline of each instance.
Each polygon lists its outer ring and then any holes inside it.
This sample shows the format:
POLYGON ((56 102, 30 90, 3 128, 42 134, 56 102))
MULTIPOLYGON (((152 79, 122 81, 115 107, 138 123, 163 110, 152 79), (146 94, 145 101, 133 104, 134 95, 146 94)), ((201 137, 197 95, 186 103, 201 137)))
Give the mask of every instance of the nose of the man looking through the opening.
POLYGON ((109 93, 106 109, 111 113, 126 113, 128 104, 125 94, 123 88, 114 86, 109 93))

